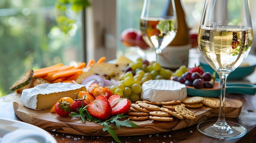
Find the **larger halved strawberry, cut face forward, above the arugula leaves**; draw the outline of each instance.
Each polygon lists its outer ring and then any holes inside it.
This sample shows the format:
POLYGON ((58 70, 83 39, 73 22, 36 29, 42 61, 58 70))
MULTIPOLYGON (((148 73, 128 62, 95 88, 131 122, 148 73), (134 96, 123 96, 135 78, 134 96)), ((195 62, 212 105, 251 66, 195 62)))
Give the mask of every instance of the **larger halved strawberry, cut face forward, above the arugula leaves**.
POLYGON ((109 119, 112 113, 108 99, 103 95, 97 96, 94 101, 90 102, 87 110, 93 117, 101 120, 109 119))

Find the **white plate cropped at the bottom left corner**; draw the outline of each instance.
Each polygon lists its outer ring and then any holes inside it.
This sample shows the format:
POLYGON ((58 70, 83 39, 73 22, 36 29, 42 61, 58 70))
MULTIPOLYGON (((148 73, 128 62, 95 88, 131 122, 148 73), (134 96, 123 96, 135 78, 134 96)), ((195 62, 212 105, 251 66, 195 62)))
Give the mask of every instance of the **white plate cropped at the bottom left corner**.
POLYGON ((57 143, 49 132, 22 121, 0 118, 0 143, 57 143), (13 135, 15 134, 15 135, 13 135))

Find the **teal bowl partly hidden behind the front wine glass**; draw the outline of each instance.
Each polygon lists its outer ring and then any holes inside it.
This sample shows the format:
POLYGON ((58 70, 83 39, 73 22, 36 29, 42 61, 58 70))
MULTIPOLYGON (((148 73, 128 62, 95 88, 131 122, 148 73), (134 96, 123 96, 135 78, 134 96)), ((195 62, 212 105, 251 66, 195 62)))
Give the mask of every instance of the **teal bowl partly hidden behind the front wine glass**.
MULTIPOLYGON (((204 71, 208 71, 211 74, 214 72, 211 66, 209 66, 209 64, 207 64, 207 62, 202 57, 200 57, 200 65, 204 71)), ((227 79, 242 79, 248 75, 251 75, 255 70, 255 66, 256 56, 248 55, 243 63, 238 68, 236 68, 236 70, 229 74, 227 79)), ((216 77, 218 78, 218 75, 216 75, 216 77)))

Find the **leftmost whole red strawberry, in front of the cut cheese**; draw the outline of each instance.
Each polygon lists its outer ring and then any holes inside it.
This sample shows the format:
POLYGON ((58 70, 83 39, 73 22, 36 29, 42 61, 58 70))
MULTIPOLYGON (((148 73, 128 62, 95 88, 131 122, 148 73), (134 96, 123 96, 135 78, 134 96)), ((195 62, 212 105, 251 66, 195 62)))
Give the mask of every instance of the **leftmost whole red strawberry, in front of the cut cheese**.
POLYGON ((55 105, 55 112, 61 117, 67 117, 72 112, 71 104, 66 100, 58 101, 55 105))

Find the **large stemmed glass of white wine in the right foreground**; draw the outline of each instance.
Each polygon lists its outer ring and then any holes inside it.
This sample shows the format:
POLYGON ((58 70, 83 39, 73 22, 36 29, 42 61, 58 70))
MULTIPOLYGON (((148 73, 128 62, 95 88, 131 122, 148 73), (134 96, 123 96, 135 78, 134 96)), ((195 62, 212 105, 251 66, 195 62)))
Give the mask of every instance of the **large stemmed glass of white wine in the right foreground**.
POLYGON ((252 37, 248 0, 206 0, 198 45, 202 57, 218 73, 221 88, 218 120, 197 125, 198 130, 207 136, 236 139, 247 132, 242 125, 225 121, 225 88, 229 73, 249 54, 252 37))

